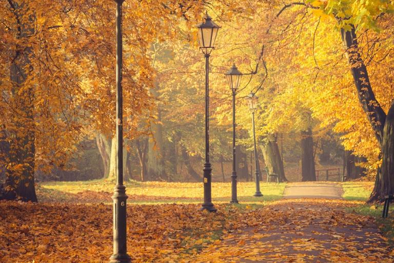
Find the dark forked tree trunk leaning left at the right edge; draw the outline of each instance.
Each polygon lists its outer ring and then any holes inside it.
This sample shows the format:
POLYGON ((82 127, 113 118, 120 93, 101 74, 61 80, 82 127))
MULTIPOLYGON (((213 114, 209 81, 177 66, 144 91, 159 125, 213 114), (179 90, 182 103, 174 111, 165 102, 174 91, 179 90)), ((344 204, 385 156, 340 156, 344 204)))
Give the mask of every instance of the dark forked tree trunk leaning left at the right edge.
MULTIPOLYGON (((383 111, 372 91, 367 68, 359 52, 356 30, 354 26, 350 26, 351 30, 349 31, 344 29, 341 30, 342 41, 346 47, 350 72, 353 76, 360 104, 366 113, 381 148, 381 156, 383 159, 382 168, 384 163, 384 169, 378 169, 375 188, 368 199, 368 202, 371 203, 373 201, 382 200, 386 193, 391 193, 393 190, 391 186, 392 180, 394 179, 394 171, 391 170, 393 155, 391 146, 393 139, 391 137, 392 120, 390 119, 389 124, 386 126, 386 113, 383 111)), ((393 105, 390 106, 389 114, 392 108, 393 105)))

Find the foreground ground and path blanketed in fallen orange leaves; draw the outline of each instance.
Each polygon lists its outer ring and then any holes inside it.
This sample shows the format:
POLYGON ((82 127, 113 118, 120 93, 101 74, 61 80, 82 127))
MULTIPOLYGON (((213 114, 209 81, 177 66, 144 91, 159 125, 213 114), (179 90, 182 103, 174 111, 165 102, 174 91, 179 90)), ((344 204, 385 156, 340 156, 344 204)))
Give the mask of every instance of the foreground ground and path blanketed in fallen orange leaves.
MULTIPOLYGON (((393 262, 375 219, 346 212, 360 204, 130 205, 128 251, 134 262, 393 262)), ((1 262, 98 263, 112 253, 110 205, 3 201, 0 210, 1 262)))

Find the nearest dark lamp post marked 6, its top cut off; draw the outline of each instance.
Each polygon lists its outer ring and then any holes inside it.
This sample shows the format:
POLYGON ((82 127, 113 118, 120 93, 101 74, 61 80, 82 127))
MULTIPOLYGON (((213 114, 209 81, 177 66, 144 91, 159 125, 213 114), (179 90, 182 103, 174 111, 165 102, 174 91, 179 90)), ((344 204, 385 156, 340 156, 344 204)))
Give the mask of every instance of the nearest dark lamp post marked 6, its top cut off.
POLYGON ((113 191, 113 254, 110 263, 130 263, 126 240, 126 187, 123 185, 122 4, 116 2, 116 186, 113 191))

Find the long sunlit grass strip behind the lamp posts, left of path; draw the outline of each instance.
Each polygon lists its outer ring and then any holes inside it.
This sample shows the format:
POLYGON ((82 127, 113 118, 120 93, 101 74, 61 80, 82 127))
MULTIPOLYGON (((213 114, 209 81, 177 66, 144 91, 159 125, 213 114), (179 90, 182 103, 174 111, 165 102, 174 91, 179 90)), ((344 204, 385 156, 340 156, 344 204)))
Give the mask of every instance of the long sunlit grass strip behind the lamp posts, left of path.
MULTIPOLYGON (((75 201, 77 203, 110 203, 114 183, 106 180, 51 181, 39 185, 37 195, 40 200, 75 201), (85 198, 84 198, 85 197, 85 198), (78 201, 80 200, 80 201, 78 201)), ((238 200, 243 204, 261 204, 278 200, 283 196, 286 184, 261 183, 263 197, 253 196, 254 182, 238 183, 238 200)), ((130 204, 200 204, 203 199, 202 183, 167 183, 128 181, 126 191, 130 204)), ((229 203, 231 183, 212 183, 212 201, 229 203)))

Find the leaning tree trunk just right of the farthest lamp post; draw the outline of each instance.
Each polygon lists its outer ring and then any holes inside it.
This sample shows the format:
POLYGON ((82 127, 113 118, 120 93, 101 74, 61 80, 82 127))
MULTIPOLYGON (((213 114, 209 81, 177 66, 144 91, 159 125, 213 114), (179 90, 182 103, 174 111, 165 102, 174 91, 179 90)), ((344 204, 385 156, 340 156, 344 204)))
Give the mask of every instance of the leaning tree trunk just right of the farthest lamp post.
MULTIPOLYGON (((278 174, 280 182, 287 181, 281 154, 277 143, 277 137, 273 134, 269 135, 267 138, 265 138, 264 143, 260 145, 260 148, 263 152, 263 157, 265 160, 265 165, 268 168, 268 172, 270 174, 278 174)), ((260 169, 260 172, 263 173, 264 171, 260 169)))

